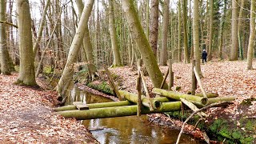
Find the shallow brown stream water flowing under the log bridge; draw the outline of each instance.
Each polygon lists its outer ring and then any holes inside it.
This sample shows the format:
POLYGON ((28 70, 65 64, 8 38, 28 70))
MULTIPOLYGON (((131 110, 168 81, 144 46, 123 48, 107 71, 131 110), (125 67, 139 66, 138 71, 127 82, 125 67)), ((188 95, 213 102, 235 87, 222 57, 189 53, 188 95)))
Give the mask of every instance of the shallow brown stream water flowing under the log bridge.
MULTIPOLYGON (((68 95, 70 98, 68 98, 67 104, 71 104, 74 101, 85 103, 112 101, 109 98, 92 95, 77 88, 69 90, 68 95)), ((101 144, 175 143, 179 133, 178 130, 171 130, 148 122, 146 115, 139 118, 137 116, 98 118, 84 120, 82 123, 91 130, 91 133, 101 144)), ((196 144, 202 142, 198 142, 188 134, 182 134, 180 143, 196 144)))

